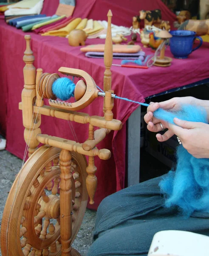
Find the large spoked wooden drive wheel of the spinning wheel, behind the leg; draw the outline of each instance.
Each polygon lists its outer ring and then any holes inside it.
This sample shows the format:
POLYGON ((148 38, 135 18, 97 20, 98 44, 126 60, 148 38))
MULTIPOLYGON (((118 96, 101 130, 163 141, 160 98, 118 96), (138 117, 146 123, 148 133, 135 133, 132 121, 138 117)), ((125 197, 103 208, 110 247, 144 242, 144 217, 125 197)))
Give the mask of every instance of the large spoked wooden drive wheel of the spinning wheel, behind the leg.
MULTIPOLYGON (((16 192, 19 180, 17 175, 3 213, 4 225, 1 228, 2 236, 4 235, 5 238, 1 242, 3 255, 61 255, 60 151, 59 148, 48 146, 39 148, 21 170, 22 178, 16 192), (11 211, 11 221, 7 225, 11 210, 9 204, 13 201, 15 193, 16 200, 11 211), (14 234, 14 227, 17 227, 19 236, 16 233, 14 234)), ((86 166, 85 157, 82 154, 72 152, 71 183, 73 200, 72 202, 66 202, 68 205, 72 204, 72 242, 79 231, 88 199, 85 183, 86 166)))

